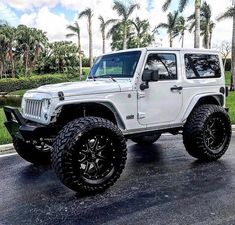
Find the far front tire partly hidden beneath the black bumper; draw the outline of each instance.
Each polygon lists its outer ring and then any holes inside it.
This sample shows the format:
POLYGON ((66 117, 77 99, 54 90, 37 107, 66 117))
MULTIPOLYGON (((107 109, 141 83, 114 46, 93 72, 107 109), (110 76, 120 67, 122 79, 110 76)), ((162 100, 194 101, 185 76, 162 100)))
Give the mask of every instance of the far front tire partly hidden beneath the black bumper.
POLYGON ((51 162, 51 152, 49 150, 39 150, 31 143, 14 138, 13 145, 21 158, 35 165, 49 165, 51 162))

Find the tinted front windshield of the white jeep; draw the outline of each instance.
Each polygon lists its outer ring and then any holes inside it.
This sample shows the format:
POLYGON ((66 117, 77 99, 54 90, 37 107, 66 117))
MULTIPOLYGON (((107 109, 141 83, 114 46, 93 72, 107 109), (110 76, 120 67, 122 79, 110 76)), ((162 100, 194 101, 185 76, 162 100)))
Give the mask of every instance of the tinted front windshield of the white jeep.
POLYGON ((115 53, 98 57, 88 78, 132 78, 141 51, 115 53))

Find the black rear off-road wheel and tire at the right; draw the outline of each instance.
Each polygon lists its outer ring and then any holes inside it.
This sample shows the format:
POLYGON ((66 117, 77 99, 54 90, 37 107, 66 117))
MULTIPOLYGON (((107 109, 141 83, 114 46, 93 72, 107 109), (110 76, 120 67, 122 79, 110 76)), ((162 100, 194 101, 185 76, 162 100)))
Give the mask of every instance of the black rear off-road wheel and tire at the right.
POLYGON ((231 122, 228 113, 218 105, 198 106, 184 126, 185 148, 199 160, 219 159, 228 149, 230 140, 231 122))

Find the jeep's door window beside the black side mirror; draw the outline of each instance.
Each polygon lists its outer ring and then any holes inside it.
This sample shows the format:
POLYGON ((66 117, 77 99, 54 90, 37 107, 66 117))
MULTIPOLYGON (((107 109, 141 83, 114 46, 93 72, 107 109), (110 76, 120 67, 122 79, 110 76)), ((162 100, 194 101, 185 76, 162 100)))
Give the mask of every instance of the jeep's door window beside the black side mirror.
POLYGON ((176 80, 176 55, 171 53, 149 54, 145 70, 158 70, 159 80, 176 80))

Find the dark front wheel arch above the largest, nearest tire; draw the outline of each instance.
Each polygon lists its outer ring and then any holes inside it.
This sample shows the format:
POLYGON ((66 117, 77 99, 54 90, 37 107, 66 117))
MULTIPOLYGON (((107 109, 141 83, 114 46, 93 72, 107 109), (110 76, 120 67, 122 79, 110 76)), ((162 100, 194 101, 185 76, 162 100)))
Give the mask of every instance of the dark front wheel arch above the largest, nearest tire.
POLYGON ((78 102, 57 107, 56 123, 66 124, 80 117, 94 116, 108 119, 119 128, 125 129, 125 123, 115 106, 110 102, 78 102))

